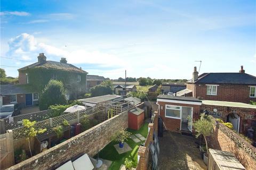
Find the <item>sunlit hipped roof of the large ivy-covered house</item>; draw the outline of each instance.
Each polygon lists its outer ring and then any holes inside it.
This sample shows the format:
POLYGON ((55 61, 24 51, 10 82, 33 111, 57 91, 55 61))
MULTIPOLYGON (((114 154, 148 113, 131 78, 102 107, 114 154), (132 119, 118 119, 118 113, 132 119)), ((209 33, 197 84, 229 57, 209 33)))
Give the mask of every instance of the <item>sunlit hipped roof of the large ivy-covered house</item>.
POLYGON ((63 70, 63 71, 72 71, 72 72, 79 72, 79 73, 87 73, 86 71, 79 69, 75 65, 72 64, 66 64, 61 62, 55 62, 55 61, 43 61, 42 63, 36 62, 30 65, 27 65, 25 67, 22 67, 18 69, 18 71, 26 70, 30 68, 45 68, 45 69, 57 69, 57 70, 63 70))

